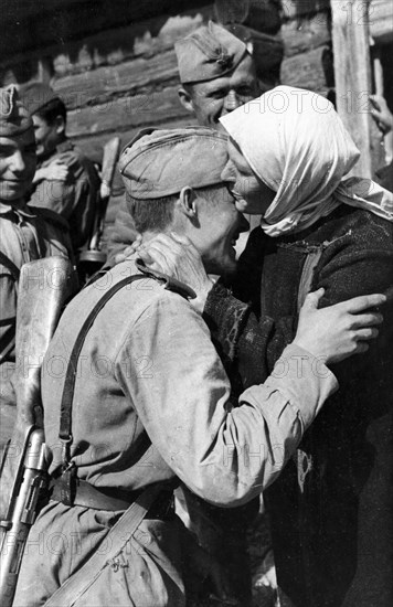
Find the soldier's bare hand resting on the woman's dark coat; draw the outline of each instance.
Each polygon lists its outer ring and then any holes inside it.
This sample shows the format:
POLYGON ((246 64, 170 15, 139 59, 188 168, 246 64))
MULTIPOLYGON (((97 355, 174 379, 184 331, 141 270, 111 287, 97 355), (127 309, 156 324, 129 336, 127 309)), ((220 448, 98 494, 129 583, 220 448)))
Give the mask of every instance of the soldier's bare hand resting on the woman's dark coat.
POLYGON ((381 294, 363 295, 318 310, 325 290, 306 297, 300 310, 294 343, 329 363, 369 350, 369 341, 379 334, 383 317, 376 310, 386 301, 381 294))

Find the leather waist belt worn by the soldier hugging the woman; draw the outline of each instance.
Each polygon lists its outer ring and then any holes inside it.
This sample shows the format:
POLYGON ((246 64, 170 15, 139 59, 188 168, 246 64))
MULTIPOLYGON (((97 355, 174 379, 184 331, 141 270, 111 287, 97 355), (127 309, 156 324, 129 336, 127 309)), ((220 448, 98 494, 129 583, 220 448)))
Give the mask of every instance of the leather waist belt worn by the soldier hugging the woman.
MULTIPOLYGON (((83 508, 92 508, 93 510, 121 511, 127 510, 141 493, 142 490, 128 492, 118 489, 98 489, 86 480, 77 479, 73 505, 82 505, 83 508)), ((50 500, 63 503, 60 479, 51 480, 50 500)), ((162 493, 160 493, 159 498, 149 509, 146 518, 170 520, 173 515, 173 491, 163 489, 162 493)))

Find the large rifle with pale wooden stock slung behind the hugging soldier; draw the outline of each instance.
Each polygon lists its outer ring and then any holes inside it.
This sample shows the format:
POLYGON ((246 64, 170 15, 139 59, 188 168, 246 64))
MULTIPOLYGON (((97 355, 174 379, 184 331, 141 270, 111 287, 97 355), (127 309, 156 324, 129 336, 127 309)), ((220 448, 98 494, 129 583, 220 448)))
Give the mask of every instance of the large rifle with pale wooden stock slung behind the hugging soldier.
POLYGON ((12 382, 17 397, 17 429, 4 451, 1 477, 12 486, 4 520, 0 521, 0 604, 11 607, 21 558, 39 500, 46 486, 50 452, 44 444, 41 365, 66 299, 76 290, 75 273, 63 257, 24 264, 17 307, 17 364, 12 382), (21 440, 20 440, 21 439, 21 440), (18 443, 22 448, 17 458, 18 443), (13 475, 13 471, 15 472, 13 475))

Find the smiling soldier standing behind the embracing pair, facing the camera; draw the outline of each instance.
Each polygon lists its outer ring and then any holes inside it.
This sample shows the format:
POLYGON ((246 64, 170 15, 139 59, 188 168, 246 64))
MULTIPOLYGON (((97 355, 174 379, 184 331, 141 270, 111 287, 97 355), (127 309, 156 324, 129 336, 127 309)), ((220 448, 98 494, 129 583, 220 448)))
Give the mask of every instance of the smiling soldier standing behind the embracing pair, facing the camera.
MULTIPOLYGON (((219 119, 258 95, 259 83, 247 45, 221 25, 212 21, 202 25, 177 42, 174 50, 181 83, 180 102, 194 114, 200 125, 224 130, 219 119)), ((109 265, 114 255, 130 244, 136 234, 125 198, 108 246, 109 265)), ((246 530, 258 512, 258 500, 229 511, 203 503, 187 489, 178 492, 178 499, 188 511, 191 529, 201 544, 224 565, 245 606, 251 599, 246 530)))

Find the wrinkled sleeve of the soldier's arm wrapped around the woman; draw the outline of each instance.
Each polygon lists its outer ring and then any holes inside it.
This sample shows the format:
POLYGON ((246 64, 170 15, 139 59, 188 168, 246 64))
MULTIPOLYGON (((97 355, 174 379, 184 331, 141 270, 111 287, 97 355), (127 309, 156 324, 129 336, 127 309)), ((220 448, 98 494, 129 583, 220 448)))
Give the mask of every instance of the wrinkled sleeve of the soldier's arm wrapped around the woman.
POLYGON ((200 315, 173 294, 155 299, 120 348, 117 377, 155 448, 216 505, 240 505, 280 472, 336 390, 332 373, 290 345, 276 376, 231 400, 200 315), (238 406, 237 406, 238 405, 238 406))

